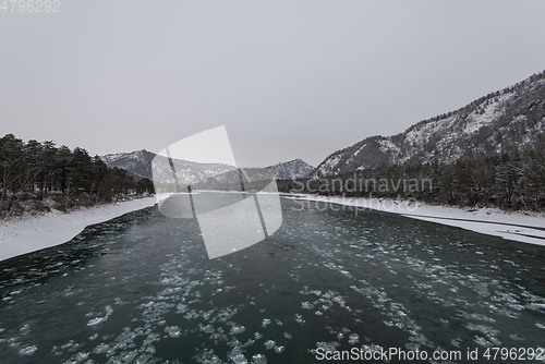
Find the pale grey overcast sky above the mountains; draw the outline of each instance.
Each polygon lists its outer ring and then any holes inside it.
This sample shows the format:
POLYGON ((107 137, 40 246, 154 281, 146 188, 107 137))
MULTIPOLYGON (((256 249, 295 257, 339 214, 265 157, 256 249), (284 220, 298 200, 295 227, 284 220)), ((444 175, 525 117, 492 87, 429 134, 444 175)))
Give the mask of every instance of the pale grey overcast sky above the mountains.
POLYGON ((92 155, 226 125, 314 166, 545 69, 545 1, 60 0, 0 10, 0 134, 92 155))

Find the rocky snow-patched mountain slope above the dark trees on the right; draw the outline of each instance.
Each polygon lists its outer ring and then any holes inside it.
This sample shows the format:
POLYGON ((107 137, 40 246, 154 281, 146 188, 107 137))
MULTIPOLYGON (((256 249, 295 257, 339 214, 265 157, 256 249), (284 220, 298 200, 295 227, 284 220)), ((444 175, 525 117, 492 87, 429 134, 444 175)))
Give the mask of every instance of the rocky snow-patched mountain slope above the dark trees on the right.
POLYGON ((385 166, 453 162, 545 147, 545 71, 421 121, 403 133, 371 136, 328 156, 312 178, 385 166))

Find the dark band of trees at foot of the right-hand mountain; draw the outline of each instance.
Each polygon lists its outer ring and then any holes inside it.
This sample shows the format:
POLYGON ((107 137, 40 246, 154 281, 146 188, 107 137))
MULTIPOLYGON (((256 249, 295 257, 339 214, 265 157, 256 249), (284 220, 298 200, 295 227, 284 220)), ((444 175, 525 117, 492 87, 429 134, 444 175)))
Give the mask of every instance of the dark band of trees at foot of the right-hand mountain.
POLYGON ((451 163, 389 166, 278 184, 281 192, 544 211, 545 149, 514 150, 451 163))

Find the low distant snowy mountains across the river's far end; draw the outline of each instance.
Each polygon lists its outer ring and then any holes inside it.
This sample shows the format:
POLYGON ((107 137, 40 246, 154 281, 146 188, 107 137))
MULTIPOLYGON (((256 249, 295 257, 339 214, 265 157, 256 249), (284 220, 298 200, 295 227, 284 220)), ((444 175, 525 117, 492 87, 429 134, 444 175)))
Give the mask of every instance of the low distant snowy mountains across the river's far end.
MULTIPOLYGON (((126 169, 135 179, 150 179, 154 175, 152 172, 152 161, 157 155, 145 149, 132 153, 109 154, 102 156, 102 160, 110 168, 119 167, 126 169)), ((197 163, 186 160, 173 159, 177 178, 182 184, 195 183, 195 181, 206 181, 215 177, 215 181, 221 180, 222 183, 240 182, 238 169, 232 166, 221 163, 197 163)), ((250 175, 250 180, 267 180, 272 175, 278 180, 304 179, 314 170, 314 167, 304 162, 301 159, 294 159, 287 162, 269 166, 266 168, 245 168, 244 171, 250 175)), ((168 159, 156 160, 156 173, 161 175, 160 179, 166 183, 171 181, 172 174, 168 159)))

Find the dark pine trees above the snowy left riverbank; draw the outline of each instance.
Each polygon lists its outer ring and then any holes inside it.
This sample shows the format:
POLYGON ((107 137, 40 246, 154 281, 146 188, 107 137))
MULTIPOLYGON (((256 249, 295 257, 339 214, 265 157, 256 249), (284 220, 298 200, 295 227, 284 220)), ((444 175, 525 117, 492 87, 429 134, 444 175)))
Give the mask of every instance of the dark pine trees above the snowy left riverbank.
POLYGON ((148 179, 109 168, 99 156, 47 141, 0 138, 0 217, 117 203, 131 194, 153 194, 148 179))

